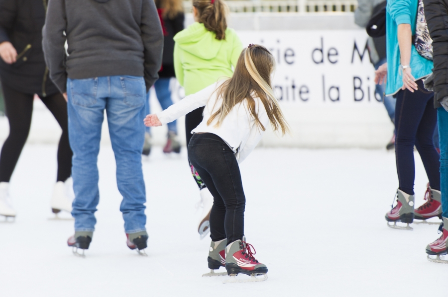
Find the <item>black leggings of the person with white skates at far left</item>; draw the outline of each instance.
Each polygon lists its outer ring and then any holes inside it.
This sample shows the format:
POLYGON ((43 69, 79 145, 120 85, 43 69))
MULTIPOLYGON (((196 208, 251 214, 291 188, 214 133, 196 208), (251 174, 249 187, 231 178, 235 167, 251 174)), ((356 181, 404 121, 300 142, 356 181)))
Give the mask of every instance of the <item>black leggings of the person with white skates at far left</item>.
MULTIPOLYGON (((1 148, 0 182, 9 182, 28 138, 34 95, 13 90, 5 84, 2 84, 2 88, 9 122, 9 136, 1 148)), ((73 154, 68 141, 67 102, 61 93, 40 98, 62 128, 58 147, 57 181, 65 181, 71 175, 73 154)))

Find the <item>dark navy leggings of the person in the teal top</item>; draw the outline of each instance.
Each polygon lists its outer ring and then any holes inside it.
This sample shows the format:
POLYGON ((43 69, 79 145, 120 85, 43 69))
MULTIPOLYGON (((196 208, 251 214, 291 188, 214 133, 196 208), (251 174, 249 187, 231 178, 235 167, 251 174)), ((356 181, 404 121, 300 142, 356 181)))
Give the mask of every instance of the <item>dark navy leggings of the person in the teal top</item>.
POLYGON ((433 143, 437 124, 434 93, 423 87, 422 80, 418 80, 417 84, 419 89, 414 93, 407 89, 397 93, 395 107, 395 158, 399 189, 410 195, 414 195, 414 145, 422 158, 431 187, 440 190, 440 156, 433 143))

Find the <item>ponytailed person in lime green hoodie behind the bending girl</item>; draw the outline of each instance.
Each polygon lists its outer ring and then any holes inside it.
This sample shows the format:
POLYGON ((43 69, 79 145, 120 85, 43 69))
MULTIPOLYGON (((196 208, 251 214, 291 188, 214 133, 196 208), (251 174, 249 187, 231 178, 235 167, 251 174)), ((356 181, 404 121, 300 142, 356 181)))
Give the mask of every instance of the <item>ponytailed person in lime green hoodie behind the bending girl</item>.
MULTIPOLYGON (((174 71, 186 96, 233 75, 242 44, 235 31, 227 28, 226 11, 223 0, 193 0, 195 22, 174 36, 174 71)), ((192 130, 202 122, 203 110, 201 107, 185 116, 187 146, 192 130)), ((202 239, 210 231, 213 196, 191 163, 190 168, 204 207, 198 226, 202 239)))

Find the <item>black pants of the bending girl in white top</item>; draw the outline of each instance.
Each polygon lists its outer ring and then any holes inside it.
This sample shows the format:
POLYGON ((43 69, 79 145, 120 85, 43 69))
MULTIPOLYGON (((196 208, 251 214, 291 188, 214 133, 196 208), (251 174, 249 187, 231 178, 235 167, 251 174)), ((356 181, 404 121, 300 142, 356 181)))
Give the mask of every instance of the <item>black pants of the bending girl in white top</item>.
POLYGON ((219 136, 200 133, 190 140, 188 158, 213 195, 210 237, 227 243, 241 239, 246 198, 233 151, 219 136))

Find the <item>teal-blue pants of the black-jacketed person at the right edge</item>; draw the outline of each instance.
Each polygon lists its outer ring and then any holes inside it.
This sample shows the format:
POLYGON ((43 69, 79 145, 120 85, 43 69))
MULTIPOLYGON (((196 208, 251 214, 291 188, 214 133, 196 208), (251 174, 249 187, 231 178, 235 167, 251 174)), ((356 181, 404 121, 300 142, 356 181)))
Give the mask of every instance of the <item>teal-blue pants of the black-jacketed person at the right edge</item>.
POLYGON ((440 141, 440 191, 442 192, 442 216, 448 218, 448 112, 437 109, 440 141))

